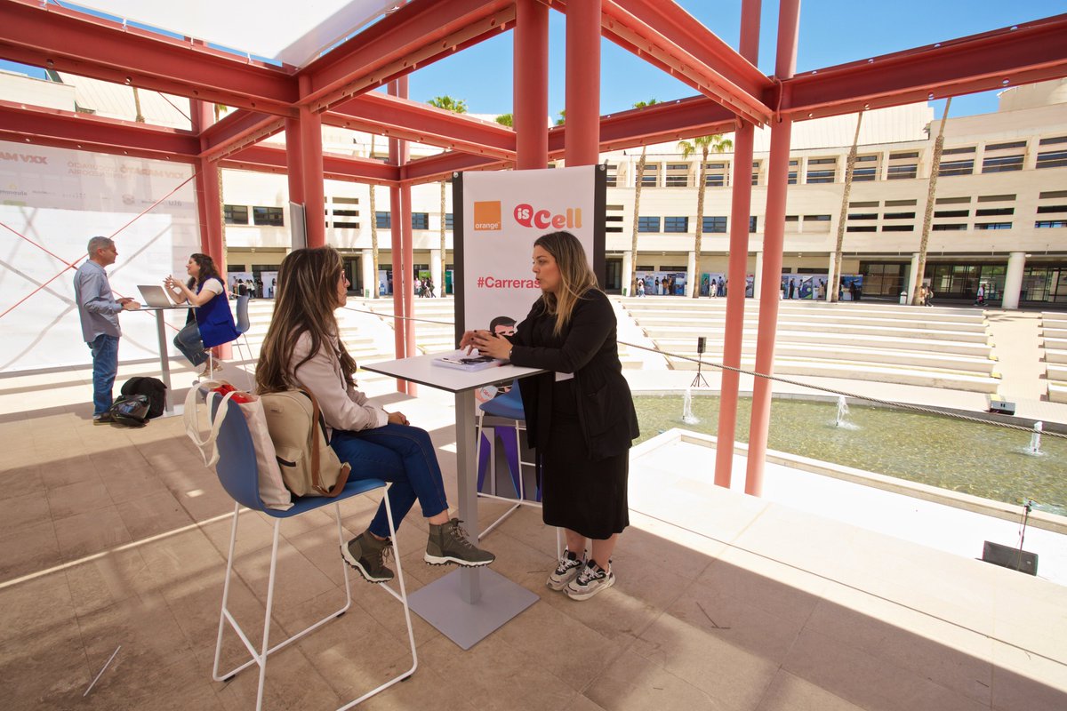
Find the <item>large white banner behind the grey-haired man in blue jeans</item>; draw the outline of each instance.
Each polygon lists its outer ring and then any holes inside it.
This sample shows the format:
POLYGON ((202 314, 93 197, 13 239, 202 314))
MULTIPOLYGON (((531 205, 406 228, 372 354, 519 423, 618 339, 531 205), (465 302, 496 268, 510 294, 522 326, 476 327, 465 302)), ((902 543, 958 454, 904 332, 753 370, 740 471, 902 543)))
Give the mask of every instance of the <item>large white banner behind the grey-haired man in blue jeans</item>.
MULTIPOLYGON (((139 284, 185 276, 189 255, 201 251, 192 175, 182 163, 0 142, 0 224, 6 228, 0 373, 92 362, 74 300, 74 271, 66 268, 83 260, 89 238, 122 228, 115 236, 118 260, 108 269, 117 295, 140 298, 139 284)), ((185 319, 178 311, 168 317, 176 327, 185 319)), ((120 320, 120 362, 158 359, 155 317, 124 312, 120 320)))

